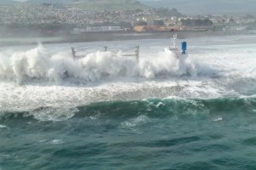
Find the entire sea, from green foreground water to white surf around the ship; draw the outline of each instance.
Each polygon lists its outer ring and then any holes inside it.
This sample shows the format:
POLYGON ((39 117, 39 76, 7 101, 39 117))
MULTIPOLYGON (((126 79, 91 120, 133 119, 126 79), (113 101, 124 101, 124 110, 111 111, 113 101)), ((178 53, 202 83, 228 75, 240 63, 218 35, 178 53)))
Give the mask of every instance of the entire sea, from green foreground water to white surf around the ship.
POLYGON ((0 48, 0 170, 256 169, 255 37, 0 48))

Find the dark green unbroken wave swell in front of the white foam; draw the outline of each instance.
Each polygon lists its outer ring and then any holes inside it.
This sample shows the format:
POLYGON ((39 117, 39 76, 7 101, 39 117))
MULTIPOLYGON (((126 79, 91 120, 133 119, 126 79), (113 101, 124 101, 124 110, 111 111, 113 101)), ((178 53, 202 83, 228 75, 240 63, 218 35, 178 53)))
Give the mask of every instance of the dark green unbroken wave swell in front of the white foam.
POLYGON ((1 119, 32 118, 39 121, 65 121, 75 117, 89 117, 90 119, 126 119, 137 116, 164 118, 166 116, 218 116, 255 112, 255 97, 222 99, 169 98, 101 102, 81 105, 76 108, 40 107, 36 110, 25 112, 2 111, 1 119))

